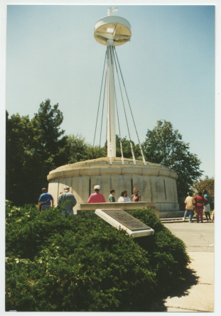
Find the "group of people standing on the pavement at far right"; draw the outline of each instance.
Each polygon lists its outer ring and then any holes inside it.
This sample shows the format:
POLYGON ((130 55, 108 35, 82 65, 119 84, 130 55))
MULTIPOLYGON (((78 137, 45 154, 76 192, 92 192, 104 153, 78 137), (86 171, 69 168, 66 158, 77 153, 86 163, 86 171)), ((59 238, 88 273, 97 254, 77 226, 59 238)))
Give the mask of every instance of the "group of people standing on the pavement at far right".
POLYGON ((198 192, 198 195, 193 197, 192 192, 188 192, 188 197, 185 198, 185 213, 183 221, 186 217, 190 217, 190 223, 193 223, 193 212, 195 211, 196 221, 203 223, 203 211, 207 222, 214 221, 214 211, 212 212, 212 220, 210 217, 210 195, 207 190, 198 192))

